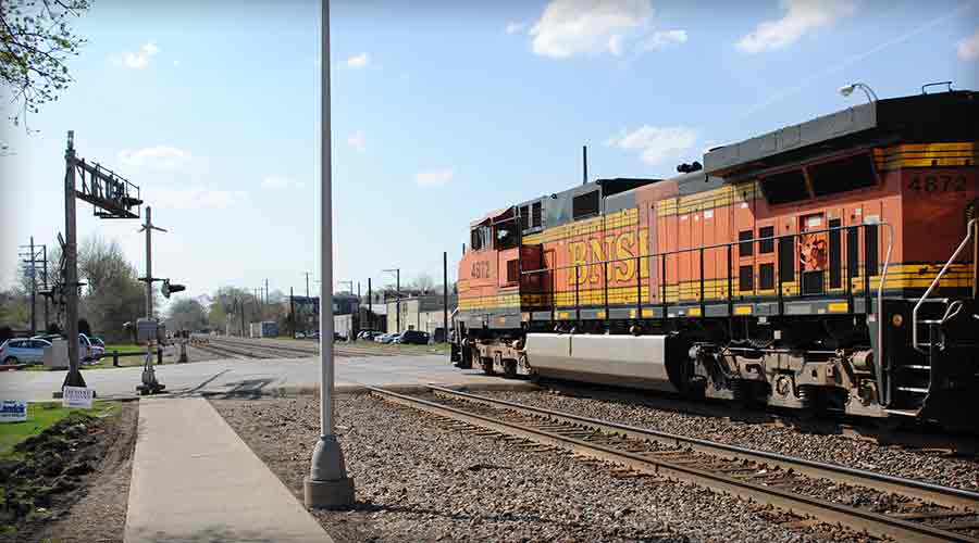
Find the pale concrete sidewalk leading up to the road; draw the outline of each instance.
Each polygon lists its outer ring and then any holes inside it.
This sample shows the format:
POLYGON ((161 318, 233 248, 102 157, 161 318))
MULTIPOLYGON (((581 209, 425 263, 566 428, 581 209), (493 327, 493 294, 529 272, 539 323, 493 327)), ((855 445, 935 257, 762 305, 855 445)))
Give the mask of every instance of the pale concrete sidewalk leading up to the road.
POLYGON ((126 543, 332 542, 201 397, 139 402, 126 543))

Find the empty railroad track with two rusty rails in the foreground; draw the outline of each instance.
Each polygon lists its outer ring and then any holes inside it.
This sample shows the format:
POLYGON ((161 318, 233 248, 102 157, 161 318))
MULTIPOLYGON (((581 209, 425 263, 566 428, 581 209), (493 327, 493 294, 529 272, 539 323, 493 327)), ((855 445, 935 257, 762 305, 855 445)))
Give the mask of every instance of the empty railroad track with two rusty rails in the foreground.
POLYGON ((430 386, 426 399, 371 388, 449 428, 570 451, 619 477, 667 477, 875 536, 979 543, 979 493, 657 432, 430 386), (848 496, 855 506, 827 495, 848 496))

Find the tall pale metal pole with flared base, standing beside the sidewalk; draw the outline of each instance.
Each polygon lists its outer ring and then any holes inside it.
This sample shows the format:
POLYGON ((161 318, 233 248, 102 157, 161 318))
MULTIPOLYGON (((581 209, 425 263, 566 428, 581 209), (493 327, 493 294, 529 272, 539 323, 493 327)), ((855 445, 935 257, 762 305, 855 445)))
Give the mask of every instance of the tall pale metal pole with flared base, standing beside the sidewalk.
POLYGON ((333 200, 330 123, 330 0, 320 14, 320 440, 302 481, 308 507, 354 505, 354 479, 333 433, 333 200))

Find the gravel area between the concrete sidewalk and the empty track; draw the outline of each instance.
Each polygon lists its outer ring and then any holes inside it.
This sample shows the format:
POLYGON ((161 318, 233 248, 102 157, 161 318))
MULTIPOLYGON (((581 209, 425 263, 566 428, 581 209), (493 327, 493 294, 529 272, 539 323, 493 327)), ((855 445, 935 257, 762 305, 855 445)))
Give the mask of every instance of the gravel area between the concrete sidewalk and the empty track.
MULTIPOLYGON (((301 500, 318 399, 212 404, 301 500)), ((357 506, 314 515, 337 542, 871 541, 692 484, 620 478, 568 454, 450 430, 365 394, 336 407, 357 506)))

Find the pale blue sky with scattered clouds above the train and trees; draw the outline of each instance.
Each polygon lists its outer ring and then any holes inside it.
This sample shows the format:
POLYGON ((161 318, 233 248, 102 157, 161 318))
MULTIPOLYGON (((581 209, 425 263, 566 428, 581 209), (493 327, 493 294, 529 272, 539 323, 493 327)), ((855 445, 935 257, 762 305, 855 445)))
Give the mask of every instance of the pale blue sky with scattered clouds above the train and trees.
MULTIPOLYGON (((664 177, 704 149, 863 100, 954 80, 979 89, 979 2, 335 1, 337 280, 456 275, 470 220, 592 177, 664 177)), ((314 2, 96 0, 61 100, 9 123, 0 283, 16 245, 64 228, 63 150, 142 188, 154 275, 198 295, 305 290, 318 270, 319 8, 314 2), (136 4, 136 7, 134 7, 136 4)), ((4 101, 5 103, 5 101, 4 101)), ((4 116, 9 112, 4 111, 4 116)), ((138 224, 78 202, 79 239, 138 224)), ((313 291, 317 291, 313 285, 313 291)))

